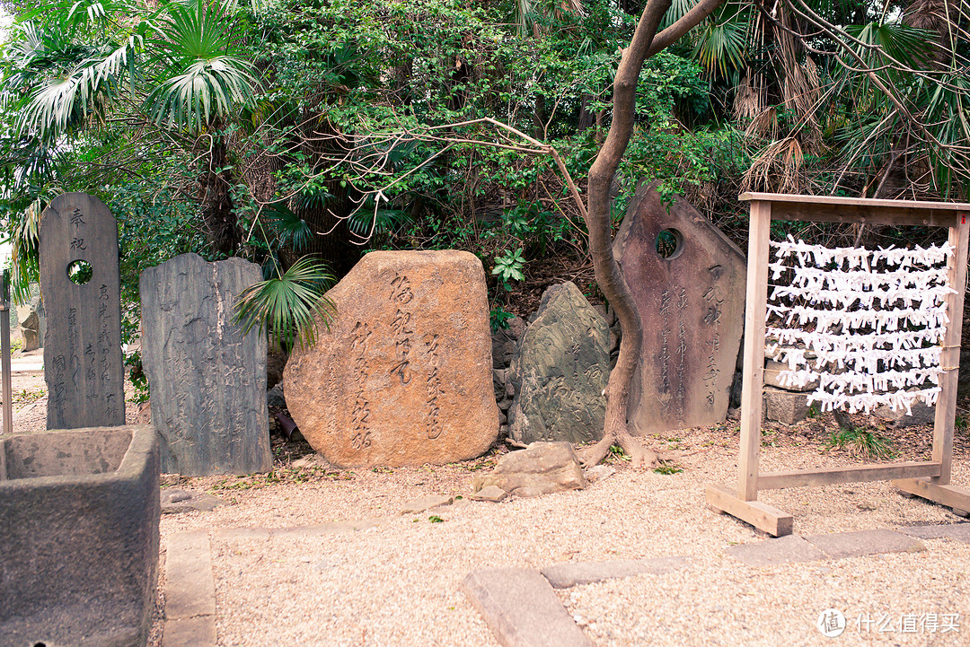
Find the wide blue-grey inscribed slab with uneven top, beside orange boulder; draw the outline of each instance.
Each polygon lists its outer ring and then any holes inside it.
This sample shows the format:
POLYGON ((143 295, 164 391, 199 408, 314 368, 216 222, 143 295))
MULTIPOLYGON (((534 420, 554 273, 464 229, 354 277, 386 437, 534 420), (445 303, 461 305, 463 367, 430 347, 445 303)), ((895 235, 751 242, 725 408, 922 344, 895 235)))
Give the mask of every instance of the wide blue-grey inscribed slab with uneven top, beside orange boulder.
POLYGON ((142 272, 142 362, 162 472, 253 474, 273 468, 266 336, 234 321, 236 297, 262 278, 242 259, 182 254, 142 272))

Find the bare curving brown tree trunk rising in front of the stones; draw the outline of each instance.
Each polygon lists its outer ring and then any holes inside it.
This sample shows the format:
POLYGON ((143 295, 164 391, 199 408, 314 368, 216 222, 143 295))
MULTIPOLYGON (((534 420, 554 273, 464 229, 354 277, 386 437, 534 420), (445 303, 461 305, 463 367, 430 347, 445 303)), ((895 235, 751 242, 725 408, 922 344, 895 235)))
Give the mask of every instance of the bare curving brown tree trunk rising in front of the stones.
POLYGON ((630 288, 613 258, 613 231, 610 221, 610 186, 630 143, 635 112, 636 81, 648 56, 676 41, 700 20, 709 15, 721 0, 701 0, 680 20, 660 34, 657 29, 671 0, 650 0, 637 22, 630 46, 623 50, 620 66, 613 79, 613 118, 609 133, 599 149, 589 175, 589 208, 586 227, 590 232, 590 255, 599 290, 613 308, 623 331, 620 355, 606 386, 606 419, 603 438, 583 454, 584 465, 596 465, 618 444, 630 455, 633 467, 656 465, 657 454, 633 439, 627 420, 630 384, 640 356, 643 327, 633 303, 630 288), (656 38, 655 38, 656 37, 656 38))

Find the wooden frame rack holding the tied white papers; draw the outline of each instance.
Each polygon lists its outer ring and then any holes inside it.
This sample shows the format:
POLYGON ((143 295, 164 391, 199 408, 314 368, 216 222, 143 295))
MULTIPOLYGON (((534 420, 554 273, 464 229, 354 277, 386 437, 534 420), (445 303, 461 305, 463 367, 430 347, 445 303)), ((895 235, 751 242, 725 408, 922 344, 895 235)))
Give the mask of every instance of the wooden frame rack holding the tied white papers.
POLYGON ((911 200, 871 200, 746 193, 751 202, 747 303, 744 316, 744 383, 737 488, 711 485, 707 503, 775 537, 792 533, 792 515, 758 501, 758 491, 806 485, 889 480, 899 489, 957 510, 970 510, 970 490, 950 484, 954 448, 956 381, 960 358, 963 293, 967 278, 970 204, 911 200), (764 385, 765 309, 768 291, 769 232, 772 220, 947 227, 954 247, 947 297, 947 326, 940 356, 945 372, 933 423, 932 460, 843 468, 761 473, 761 390, 764 385))

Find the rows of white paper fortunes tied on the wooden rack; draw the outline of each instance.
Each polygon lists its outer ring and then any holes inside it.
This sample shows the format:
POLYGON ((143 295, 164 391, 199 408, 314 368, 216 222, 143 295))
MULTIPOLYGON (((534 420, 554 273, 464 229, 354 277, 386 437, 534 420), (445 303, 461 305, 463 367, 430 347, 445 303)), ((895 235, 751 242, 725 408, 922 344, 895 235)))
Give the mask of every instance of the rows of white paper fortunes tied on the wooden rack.
POLYGON ((818 382, 808 394, 823 411, 869 413, 879 405, 911 414, 934 404, 947 317, 947 267, 953 247, 827 248, 801 240, 771 242, 774 285, 766 318, 767 349, 788 364, 783 386, 818 382), (940 265, 943 265, 942 267, 940 265), (797 301, 798 305, 794 302, 797 301), (799 327, 811 324, 814 330, 799 327), (813 355, 809 357, 808 355, 813 355))

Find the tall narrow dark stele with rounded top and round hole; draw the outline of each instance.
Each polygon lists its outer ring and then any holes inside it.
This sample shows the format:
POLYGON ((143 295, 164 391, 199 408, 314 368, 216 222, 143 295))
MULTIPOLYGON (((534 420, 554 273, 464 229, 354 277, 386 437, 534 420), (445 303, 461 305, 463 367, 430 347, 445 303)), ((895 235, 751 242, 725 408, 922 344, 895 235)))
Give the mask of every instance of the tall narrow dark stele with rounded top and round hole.
POLYGON ((124 424, 118 231, 104 202, 62 194, 41 216, 48 429, 124 424))

